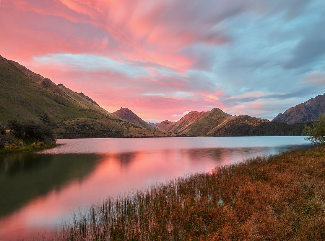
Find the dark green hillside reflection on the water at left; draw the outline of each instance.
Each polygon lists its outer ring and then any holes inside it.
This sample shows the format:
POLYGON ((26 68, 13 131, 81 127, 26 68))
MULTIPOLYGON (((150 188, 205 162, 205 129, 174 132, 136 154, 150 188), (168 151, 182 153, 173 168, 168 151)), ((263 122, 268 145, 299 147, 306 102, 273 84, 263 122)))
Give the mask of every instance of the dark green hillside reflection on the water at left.
POLYGON ((31 152, 0 157, 0 216, 29 200, 92 172, 98 154, 41 155, 31 152), (69 160, 69 161, 67 161, 69 160))

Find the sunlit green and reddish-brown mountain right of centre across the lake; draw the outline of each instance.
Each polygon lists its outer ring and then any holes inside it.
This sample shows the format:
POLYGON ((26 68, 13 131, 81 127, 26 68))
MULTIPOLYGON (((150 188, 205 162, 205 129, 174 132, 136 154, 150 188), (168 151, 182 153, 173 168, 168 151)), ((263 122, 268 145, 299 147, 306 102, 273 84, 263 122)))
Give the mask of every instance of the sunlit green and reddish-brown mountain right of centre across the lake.
POLYGON ((244 136, 261 123, 269 122, 248 115, 230 115, 219 108, 211 111, 191 111, 179 121, 165 120, 156 126, 161 131, 168 131, 196 136, 244 136))

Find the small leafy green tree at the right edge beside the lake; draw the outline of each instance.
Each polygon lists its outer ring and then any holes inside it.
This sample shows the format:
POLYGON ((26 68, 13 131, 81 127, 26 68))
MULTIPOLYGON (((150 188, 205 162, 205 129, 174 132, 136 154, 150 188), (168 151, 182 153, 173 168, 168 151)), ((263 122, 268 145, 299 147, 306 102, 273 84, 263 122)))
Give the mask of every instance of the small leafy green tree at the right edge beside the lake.
POLYGON ((304 139, 325 148, 325 115, 320 116, 319 121, 313 123, 313 127, 305 125, 303 133, 304 139))

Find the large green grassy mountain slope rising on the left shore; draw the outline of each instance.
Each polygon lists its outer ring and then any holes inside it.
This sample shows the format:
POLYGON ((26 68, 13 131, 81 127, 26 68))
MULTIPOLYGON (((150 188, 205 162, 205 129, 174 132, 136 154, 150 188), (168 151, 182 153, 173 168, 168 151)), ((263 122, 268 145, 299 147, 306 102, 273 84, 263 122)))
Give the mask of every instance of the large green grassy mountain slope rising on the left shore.
MULTIPOLYGON (((146 130, 109 113, 84 93, 0 56, 0 123, 46 122, 58 138, 175 136, 146 130)), ((149 125, 149 124, 148 124, 149 125)))

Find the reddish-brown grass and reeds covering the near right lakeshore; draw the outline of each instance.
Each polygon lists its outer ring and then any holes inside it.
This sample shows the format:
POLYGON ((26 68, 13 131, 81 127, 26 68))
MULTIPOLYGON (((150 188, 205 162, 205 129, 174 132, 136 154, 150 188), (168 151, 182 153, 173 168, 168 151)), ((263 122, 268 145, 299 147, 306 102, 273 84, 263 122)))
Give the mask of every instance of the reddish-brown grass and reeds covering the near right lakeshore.
POLYGON ((325 240, 325 150, 189 175, 94 205, 55 240, 325 240))

